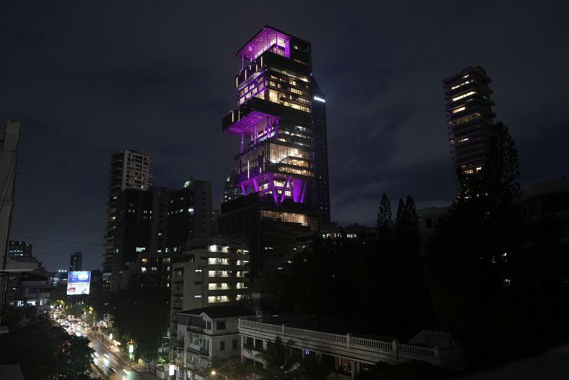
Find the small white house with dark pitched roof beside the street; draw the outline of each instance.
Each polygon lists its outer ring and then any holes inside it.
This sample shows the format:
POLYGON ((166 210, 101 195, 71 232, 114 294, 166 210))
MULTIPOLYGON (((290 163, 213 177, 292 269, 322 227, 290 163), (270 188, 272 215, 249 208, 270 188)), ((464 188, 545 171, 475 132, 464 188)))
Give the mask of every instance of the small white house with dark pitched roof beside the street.
POLYGON ((201 374, 213 357, 226 361, 241 355, 242 342, 237 329, 240 317, 254 313, 239 305, 210 306, 178 312, 173 362, 177 379, 189 379, 189 372, 201 374))

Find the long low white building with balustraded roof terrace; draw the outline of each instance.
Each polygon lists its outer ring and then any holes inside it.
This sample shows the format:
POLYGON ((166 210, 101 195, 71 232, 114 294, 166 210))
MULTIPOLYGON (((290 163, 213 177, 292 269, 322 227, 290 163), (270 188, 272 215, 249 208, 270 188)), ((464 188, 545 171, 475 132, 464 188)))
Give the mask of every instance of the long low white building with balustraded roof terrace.
POLYGON ((363 338, 351 333, 331 333, 315 328, 307 316, 282 316, 239 319, 239 336, 242 342, 242 361, 263 365, 259 351, 267 348, 267 341, 280 336, 284 343, 302 357, 313 355, 330 365, 338 379, 354 379, 364 367, 377 362, 398 364, 409 360, 422 360, 444 369, 463 369, 463 348, 448 333, 421 331, 402 344, 398 340, 363 338))

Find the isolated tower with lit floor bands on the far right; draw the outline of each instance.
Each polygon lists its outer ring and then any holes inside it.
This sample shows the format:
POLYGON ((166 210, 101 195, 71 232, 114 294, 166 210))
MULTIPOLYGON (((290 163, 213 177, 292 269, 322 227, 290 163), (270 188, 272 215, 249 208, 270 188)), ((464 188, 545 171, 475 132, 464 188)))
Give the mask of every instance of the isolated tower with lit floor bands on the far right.
POLYGON ((483 170, 487 160, 494 102, 492 82, 481 66, 464 68, 442 81, 451 157, 456 169, 466 175, 483 170))

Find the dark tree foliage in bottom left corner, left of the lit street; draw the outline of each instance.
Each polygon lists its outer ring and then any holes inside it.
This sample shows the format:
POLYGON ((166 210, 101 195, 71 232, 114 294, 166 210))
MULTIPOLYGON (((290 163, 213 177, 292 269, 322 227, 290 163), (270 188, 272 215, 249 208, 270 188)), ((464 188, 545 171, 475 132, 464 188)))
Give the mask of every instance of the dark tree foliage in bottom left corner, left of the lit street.
POLYGON ((25 379, 89 379, 93 350, 87 338, 27 309, 6 307, 6 315, 10 332, 2 336, 1 364, 20 364, 25 379))

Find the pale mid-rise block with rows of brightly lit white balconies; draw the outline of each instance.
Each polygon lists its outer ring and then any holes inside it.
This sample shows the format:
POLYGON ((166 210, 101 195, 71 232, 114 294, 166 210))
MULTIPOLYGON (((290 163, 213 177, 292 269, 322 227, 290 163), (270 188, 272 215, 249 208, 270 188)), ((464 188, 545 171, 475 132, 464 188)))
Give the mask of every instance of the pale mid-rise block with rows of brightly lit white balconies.
MULTIPOLYGON (((170 338, 176 335, 176 313, 211 305, 236 305, 248 294, 249 251, 235 242, 194 242, 182 262, 173 263, 170 338)), ((176 343, 170 341, 171 348, 176 343)))

